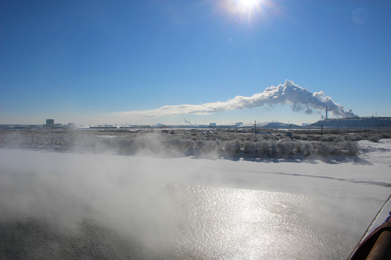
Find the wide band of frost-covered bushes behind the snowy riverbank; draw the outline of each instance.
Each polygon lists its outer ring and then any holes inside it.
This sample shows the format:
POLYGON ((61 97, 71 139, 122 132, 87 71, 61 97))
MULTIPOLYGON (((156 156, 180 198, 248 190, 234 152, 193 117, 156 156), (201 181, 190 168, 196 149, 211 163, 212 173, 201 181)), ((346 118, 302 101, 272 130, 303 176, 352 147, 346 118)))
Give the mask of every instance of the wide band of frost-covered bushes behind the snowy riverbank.
MULTIPOLYGON (((172 129, 170 129, 172 131, 172 129)), ((195 133, 188 130, 175 130, 174 135, 155 133, 129 133, 129 131, 108 130, 0 130, 0 147, 71 150, 94 153, 114 152, 119 154, 189 155, 189 151, 206 158, 217 158, 221 151, 236 154, 276 156, 291 155, 294 152, 308 156, 313 149, 322 156, 340 155, 342 152, 354 154, 354 144, 346 147, 346 142, 369 139, 379 141, 390 135, 384 132, 349 134, 337 136, 336 131, 321 138, 320 131, 304 130, 295 133, 295 141, 286 139, 282 131, 273 134, 254 134, 235 131, 214 131, 214 134, 195 133), (316 140, 309 142, 308 140, 316 140), (319 142, 320 141, 320 142, 319 142), (312 144, 313 143, 313 147, 312 144)), ((338 133, 341 133, 340 130, 338 133)), ((349 145, 349 144, 348 144, 349 145)))

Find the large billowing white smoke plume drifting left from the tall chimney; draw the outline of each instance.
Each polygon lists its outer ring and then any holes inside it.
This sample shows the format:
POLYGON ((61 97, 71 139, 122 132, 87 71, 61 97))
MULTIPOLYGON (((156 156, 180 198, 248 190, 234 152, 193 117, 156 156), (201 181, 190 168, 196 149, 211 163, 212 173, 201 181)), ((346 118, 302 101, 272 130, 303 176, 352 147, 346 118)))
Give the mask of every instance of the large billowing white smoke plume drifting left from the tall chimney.
POLYGON ((276 105, 290 103, 295 112, 304 111, 311 114, 314 110, 325 111, 334 116, 357 117, 351 109, 345 111, 345 107, 335 103, 330 97, 325 97, 323 91, 310 92, 307 88, 295 85, 293 81, 286 80, 284 84, 277 87, 268 87, 262 93, 254 94, 251 97, 236 96, 234 99, 225 102, 205 103, 201 105, 168 105, 149 111, 121 112, 121 116, 133 118, 159 118, 178 115, 209 115, 216 112, 238 110, 263 106, 265 104, 276 105))

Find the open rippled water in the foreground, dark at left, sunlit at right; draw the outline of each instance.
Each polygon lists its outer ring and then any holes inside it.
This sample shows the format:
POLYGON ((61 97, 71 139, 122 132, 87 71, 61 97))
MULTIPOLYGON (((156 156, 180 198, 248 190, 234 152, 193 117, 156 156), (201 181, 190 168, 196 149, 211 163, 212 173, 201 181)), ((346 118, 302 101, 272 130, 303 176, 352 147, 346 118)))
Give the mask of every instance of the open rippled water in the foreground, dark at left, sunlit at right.
POLYGON ((123 200, 150 201, 147 208, 121 201, 123 211, 102 214, 92 202, 77 214, 65 206, 1 221, 0 257, 345 259, 362 234, 344 213, 347 201, 184 184, 162 190, 123 200))

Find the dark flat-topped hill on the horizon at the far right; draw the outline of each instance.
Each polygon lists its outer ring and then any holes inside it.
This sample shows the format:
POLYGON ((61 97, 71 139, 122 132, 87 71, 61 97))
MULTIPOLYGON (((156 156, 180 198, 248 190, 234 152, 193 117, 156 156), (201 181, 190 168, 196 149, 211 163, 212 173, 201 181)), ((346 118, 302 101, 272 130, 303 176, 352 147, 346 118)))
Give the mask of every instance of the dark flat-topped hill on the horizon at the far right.
POLYGON ((372 117, 372 118, 347 118, 347 119, 328 119, 320 120, 311 126, 327 126, 327 127, 391 127, 391 117, 372 117))

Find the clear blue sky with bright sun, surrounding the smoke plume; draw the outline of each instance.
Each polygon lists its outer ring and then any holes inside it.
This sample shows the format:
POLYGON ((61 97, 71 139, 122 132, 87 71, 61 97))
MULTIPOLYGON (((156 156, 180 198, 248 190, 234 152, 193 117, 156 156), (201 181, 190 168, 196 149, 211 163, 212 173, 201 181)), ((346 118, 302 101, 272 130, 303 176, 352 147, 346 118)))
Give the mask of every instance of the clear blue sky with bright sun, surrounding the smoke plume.
POLYGON ((323 111, 295 112, 289 101, 176 107, 285 80, 359 116, 390 116, 391 1, 2 0, 0 12, 3 124, 320 120, 323 111), (163 106, 176 112, 152 113, 163 106))

